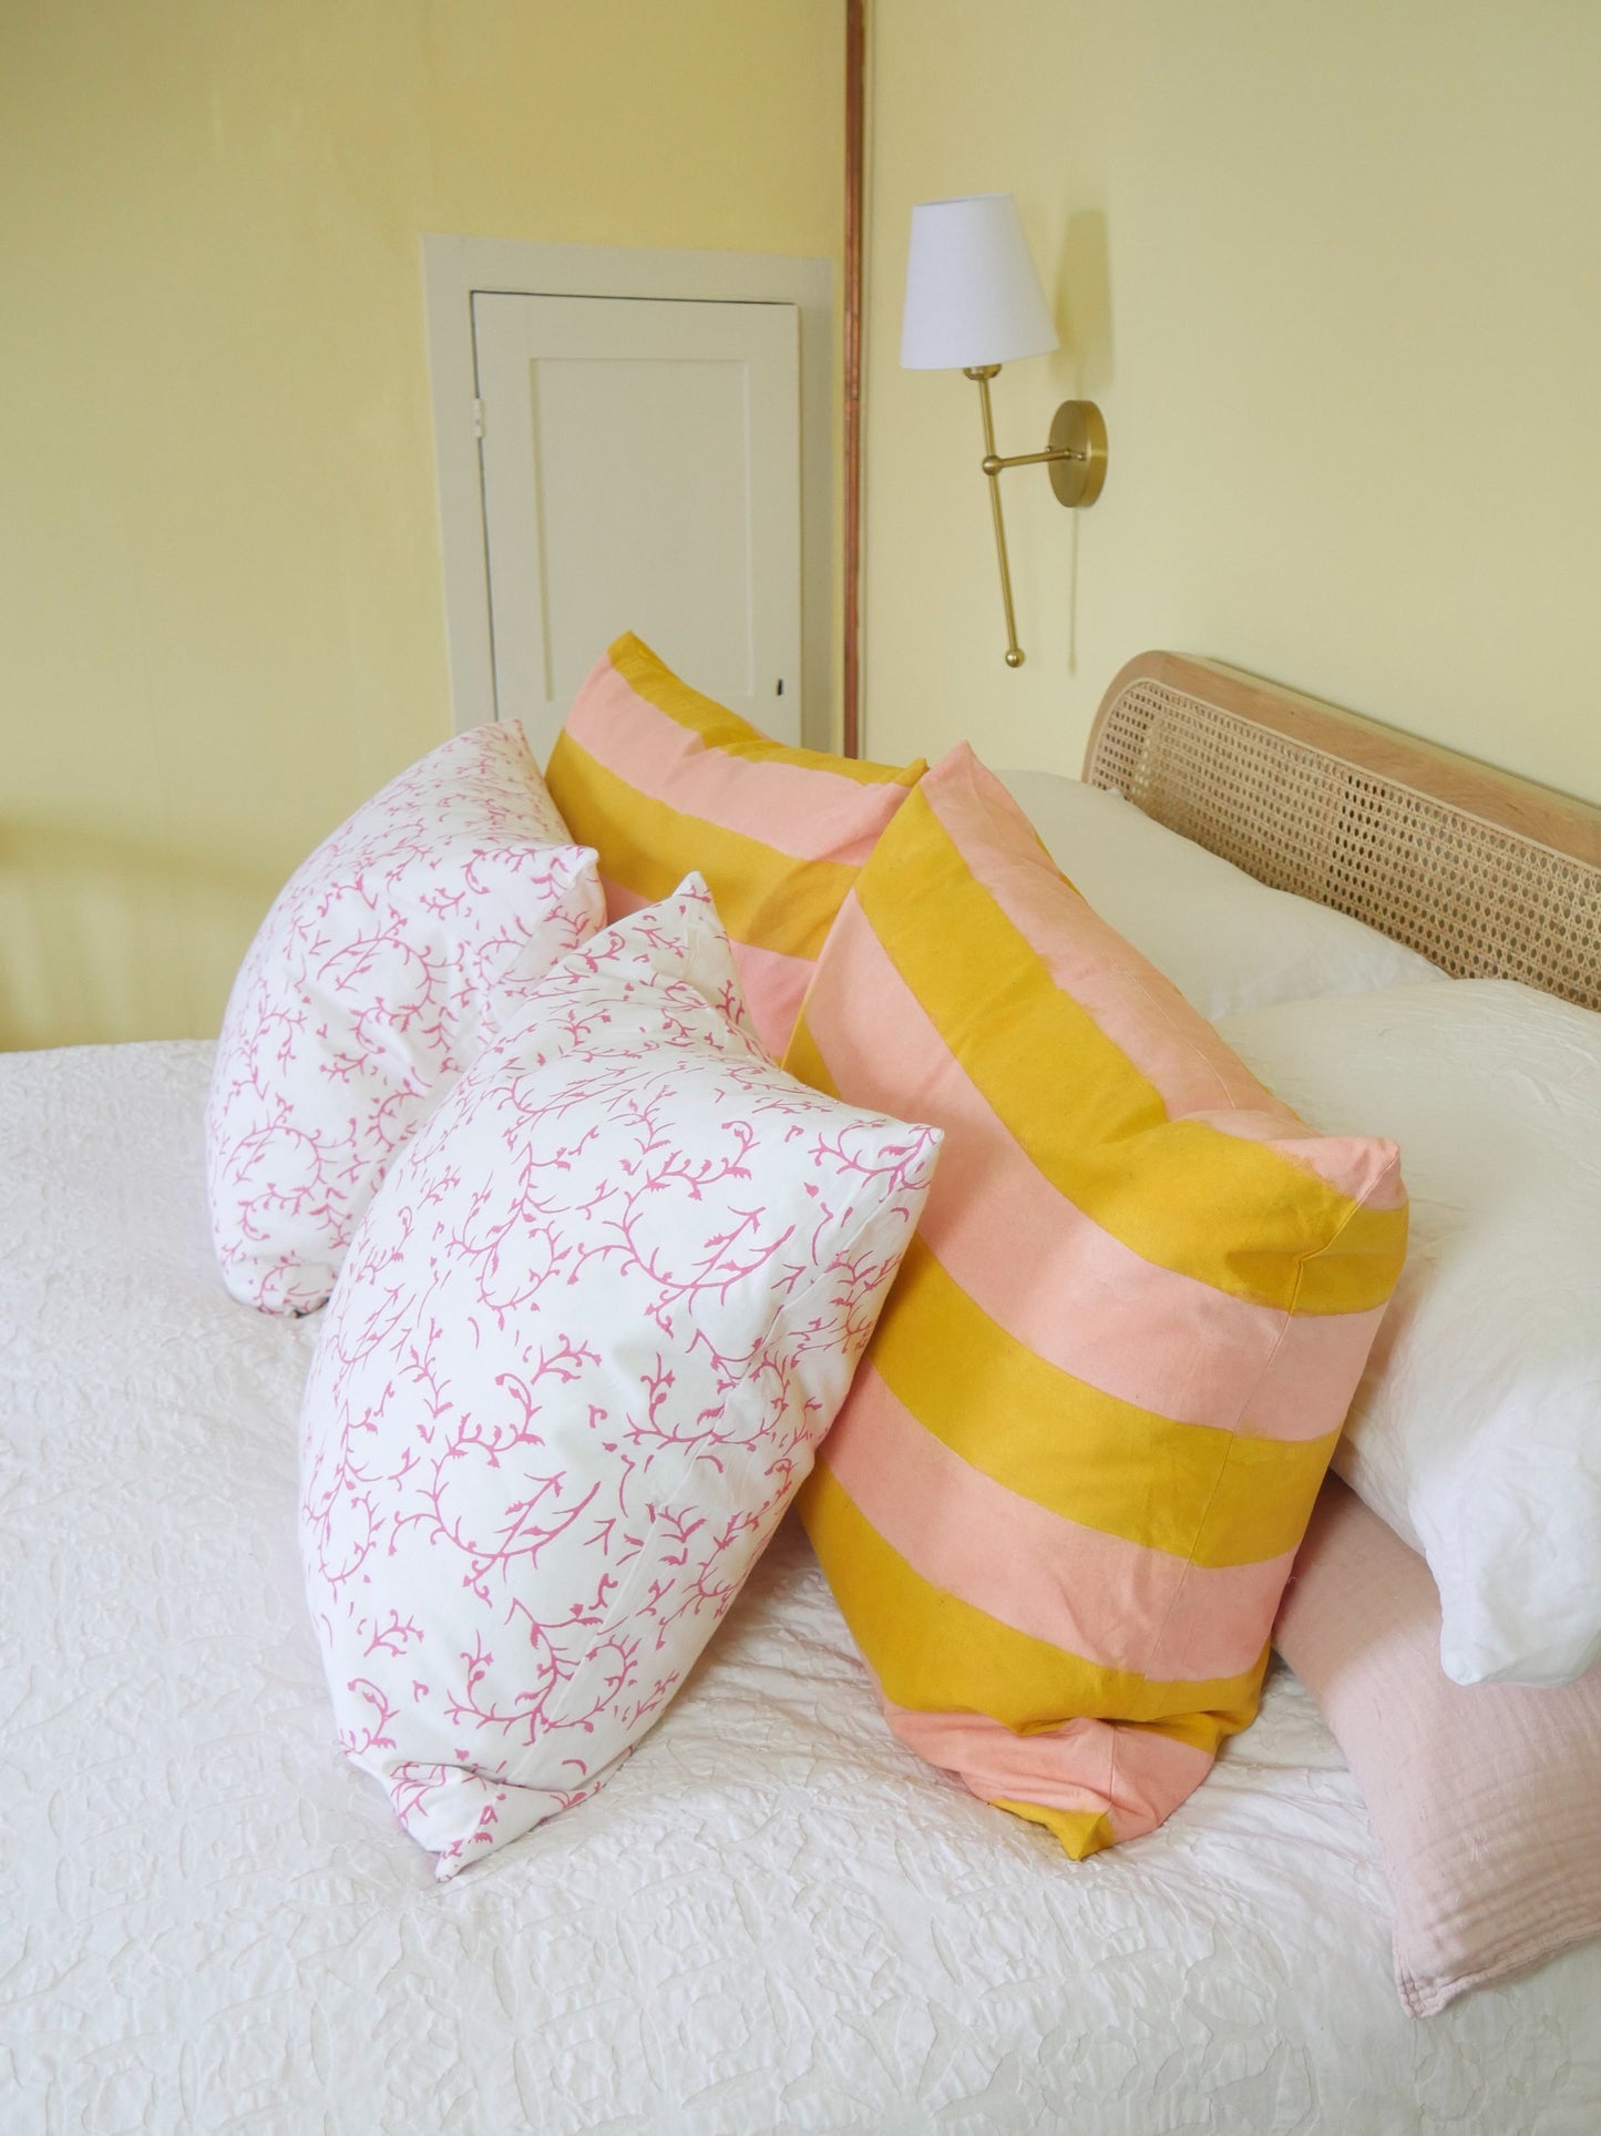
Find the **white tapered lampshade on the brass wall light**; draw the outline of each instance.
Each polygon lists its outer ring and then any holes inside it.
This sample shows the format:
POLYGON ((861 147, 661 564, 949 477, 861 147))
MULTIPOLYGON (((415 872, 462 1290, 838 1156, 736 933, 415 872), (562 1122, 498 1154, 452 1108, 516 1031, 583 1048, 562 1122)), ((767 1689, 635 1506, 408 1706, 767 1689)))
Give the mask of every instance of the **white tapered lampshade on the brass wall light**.
POLYGON ((954 372, 1057 348, 1046 297, 1010 192, 912 209, 901 367, 954 372))

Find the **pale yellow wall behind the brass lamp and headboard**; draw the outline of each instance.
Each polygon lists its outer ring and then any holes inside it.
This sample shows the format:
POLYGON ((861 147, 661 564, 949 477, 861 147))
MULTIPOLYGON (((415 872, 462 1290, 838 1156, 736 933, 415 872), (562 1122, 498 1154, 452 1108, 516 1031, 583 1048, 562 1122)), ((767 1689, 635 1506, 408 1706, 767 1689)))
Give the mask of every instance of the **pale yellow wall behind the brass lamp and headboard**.
POLYGON ((877 0, 867 681, 877 756, 1078 769, 1148 645, 1601 799, 1601 6, 877 0), (1003 453, 1106 410, 1099 504, 1005 496, 976 389, 899 370, 914 201, 1012 190, 1063 352, 1003 453))

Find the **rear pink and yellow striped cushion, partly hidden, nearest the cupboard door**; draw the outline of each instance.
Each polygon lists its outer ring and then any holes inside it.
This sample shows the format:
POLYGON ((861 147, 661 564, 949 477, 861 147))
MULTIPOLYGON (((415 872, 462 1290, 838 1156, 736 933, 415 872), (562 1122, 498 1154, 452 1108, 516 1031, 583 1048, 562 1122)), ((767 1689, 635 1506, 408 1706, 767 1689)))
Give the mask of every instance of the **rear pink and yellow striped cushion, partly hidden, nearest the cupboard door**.
POLYGON ((924 769, 768 741, 628 634, 589 673, 544 780, 600 854, 613 921, 704 876, 777 1059, 835 912, 924 769))

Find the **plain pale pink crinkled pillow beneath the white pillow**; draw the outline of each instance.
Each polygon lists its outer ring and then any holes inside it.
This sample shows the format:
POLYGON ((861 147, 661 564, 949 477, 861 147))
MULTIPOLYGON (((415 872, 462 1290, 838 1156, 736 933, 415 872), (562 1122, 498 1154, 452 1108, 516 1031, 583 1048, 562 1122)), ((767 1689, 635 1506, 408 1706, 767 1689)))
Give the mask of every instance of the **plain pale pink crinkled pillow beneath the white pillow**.
POLYGON ((1460 1685, 1439 1632, 1424 1559, 1330 1476, 1274 1645, 1368 1805, 1413 2016, 1601 1935, 1601 1670, 1460 1685))

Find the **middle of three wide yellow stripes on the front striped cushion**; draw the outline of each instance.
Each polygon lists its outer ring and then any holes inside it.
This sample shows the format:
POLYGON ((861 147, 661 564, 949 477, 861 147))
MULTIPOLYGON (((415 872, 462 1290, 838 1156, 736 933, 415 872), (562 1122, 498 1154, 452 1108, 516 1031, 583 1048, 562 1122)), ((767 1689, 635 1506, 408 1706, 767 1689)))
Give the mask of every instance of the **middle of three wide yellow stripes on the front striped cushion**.
POLYGON ((1198 1566, 1294 1551, 1338 1440, 1236 1438, 1104 1395, 1008 1335, 920 1237, 869 1358, 969 1467, 1067 1521, 1198 1566))

